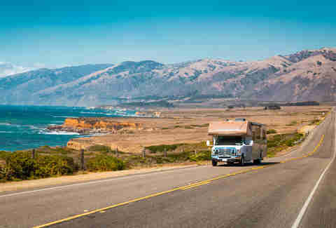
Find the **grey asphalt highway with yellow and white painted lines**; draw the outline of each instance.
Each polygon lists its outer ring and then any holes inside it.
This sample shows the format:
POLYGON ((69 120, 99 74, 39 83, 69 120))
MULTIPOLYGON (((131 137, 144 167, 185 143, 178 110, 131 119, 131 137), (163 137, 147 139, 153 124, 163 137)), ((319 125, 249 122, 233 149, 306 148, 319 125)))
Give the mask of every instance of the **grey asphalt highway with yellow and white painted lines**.
POLYGON ((287 156, 0 194, 0 227, 336 227, 335 113, 287 156))

